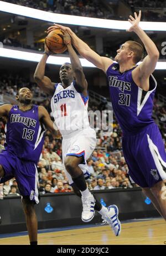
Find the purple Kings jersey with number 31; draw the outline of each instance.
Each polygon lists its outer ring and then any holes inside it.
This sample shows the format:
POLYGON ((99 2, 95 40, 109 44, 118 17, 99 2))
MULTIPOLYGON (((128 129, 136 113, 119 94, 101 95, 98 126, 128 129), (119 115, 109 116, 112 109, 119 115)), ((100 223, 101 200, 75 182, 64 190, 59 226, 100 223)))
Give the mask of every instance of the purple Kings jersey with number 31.
POLYGON ((121 73, 119 64, 113 63, 106 72, 113 111, 123 134, 135 134, 154 122, 152 109, 157 82, 151 74, 149 91, 143 91, 132 79, 134 68, 121 73))

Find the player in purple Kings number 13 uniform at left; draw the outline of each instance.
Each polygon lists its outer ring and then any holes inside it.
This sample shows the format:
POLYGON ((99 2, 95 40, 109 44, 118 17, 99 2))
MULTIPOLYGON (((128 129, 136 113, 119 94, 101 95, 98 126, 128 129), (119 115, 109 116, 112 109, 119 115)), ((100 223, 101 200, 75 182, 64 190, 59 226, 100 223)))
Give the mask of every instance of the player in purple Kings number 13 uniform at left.
POLYGON ((37 163, 43 148, 45 127, 55 137, 59 132, 54 129, 46 109, 32 104, 29 88, 19 89, 16 98, 18 106, 5 104, 0 107, 0 116, 8 119, 5 150, 0 154, 0 183, 13 177, 17 180, 30 244, 35 245, 38 223, 34 204, 39 203, 37 163))

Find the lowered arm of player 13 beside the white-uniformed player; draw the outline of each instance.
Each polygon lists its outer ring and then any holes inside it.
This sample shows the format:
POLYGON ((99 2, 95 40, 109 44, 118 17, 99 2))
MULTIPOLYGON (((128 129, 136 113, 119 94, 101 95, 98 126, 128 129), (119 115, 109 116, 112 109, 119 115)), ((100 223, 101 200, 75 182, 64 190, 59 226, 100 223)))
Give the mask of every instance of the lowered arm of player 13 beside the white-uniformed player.
POLYGON ((51 121, 50 115, 48 111, 43 106, 39 106, 39 120, 42 121, 47 129, 50 130, 50 132, 54 135, 56 139, 61 138, 61 133, 51 121))

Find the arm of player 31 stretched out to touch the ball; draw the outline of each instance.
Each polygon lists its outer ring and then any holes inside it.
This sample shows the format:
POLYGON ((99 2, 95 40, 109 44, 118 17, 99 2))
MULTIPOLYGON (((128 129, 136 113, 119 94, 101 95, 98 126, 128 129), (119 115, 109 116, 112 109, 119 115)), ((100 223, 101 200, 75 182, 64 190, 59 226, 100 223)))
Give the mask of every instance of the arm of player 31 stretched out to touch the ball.
POLYGON ((69 27, 64 27, 54 23, 54 26, 48 28, 48 33, 53 31, 54 29, 61 29, 62 31, 68 32, 71 36, 72 44, 80 53, 80 55, 93 63, 97 68, 100 68, 104 72, 106 72, 108 67, 110 67, 110 65, 113 63, 112 59, 101 57, 96 52, 94 52, 84 41, 77 37, 76 34, 69 27))

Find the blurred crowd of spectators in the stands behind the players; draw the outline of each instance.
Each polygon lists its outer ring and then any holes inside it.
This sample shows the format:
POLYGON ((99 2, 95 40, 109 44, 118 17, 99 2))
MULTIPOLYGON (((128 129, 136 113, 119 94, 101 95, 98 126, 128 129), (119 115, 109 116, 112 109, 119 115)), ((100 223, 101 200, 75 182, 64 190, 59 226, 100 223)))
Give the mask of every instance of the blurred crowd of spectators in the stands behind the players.
MULTIPOLYGON (((142 10, 142 21, 166 21, 166 1, 81 1, 81 0, 12 0, 3 1, 35 8, 51 13, 69 14, 75 16, 94 17, 102 19, 127 20, 129 14, 142 10)), ((28 51, 41 53, 44 49, 44 39, 46 28, 52 23, 38 21, 22 16, 0 12, 0 47, 5 49, 16 49, 18 51, 28 51)), ((138 38, 136 35, 118 29, 100 29, 84 26, 71 26, 78 36, 90 45, 92 49, 101 54, 113 58, 121 43, 138 38)), ((161 49, 161 42, 165 41, 165 34, 162 32, 148 32, 148 35, 161 49)), ((68 54, 65 52, 64 54, 68 54)), ((62 54, 62 56, 64 55, 62 54)), ((164 54, 160 54, 160 61, 165 59, 164 54)), ((34 104, 44 106, 53 114, 50 108, 48 95, 40 91, 33 80, 33 73, 37 63, 15 61, 0 57, 0 104, 13 101, 20 87, 29 87, 34 96, 34 104)), ((89 110, 103 111, 111 109, 111 102, 106 87, 105 74, 97 69, 85 68, 85 76, 89 83, 89 110)), ((59 81, 59 66, 46 66, 46 74, 52 81, 59 81)), ((165 94, 165 73, 155 71, 158 88, 155 94, 153 118, 158 124, 162 133, 163 141, 166 138, 166 94, 165 94)), ((59 81, 60 82, 60 81, 59 81)), ((97 120, 95 121, 97 123, 97 120)), ((6 120, 0 119, 0 149, 4 149, 4 127, 6 120)), ((87 179, 88 187, 91 190, 133 188, 137 184, 132 184, 128 177, 128 167, 122 152, 122 130, 113 116, 113 132, 111 136, 105 136, 95 126, 97 144, 94 153, 87 160, 87 168, 91 173, 87 179)), ((165 143, 166 147, 166 143, 165 143)), ((62 163, 61 139, 55 139, 49 131, 45 134, 45 142, 38 162, 39 190, 41 194, 71 192, 72 188, 68 183, 68 178, 64 172, 62 163)), ((2 186, 1 186, 2 187, 2 186)), ((15 178, 3 184, 4 195, 19 195, 15 178)))

